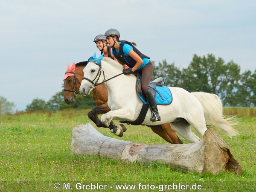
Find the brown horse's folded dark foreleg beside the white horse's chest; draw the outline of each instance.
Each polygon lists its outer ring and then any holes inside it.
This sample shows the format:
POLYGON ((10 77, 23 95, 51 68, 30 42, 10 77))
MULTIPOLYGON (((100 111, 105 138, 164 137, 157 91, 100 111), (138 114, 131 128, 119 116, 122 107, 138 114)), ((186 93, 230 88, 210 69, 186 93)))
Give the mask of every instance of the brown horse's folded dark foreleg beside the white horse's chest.
POLYGON ((88 117, 97 125, 97 127, 107 128, 108 126, 104 125, 99 120, 98 114, 107 113, 108 111, 110 111, 108 103, 104 103, 103 105, 99 105, 96 108, 93 108, 93 110, 88 113, 88 117))

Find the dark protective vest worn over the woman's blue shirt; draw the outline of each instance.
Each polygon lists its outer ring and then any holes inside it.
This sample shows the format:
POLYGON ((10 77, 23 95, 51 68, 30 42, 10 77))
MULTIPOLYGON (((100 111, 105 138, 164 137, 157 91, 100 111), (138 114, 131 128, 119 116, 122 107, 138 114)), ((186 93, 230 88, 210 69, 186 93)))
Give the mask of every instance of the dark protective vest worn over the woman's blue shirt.
POLYGON ((143 53, 141 53, 136 47, 134 47, 133 44, 131 44, 130 42, 128 41, 121 41, 121 44, 120 44, 120 48, 119 48, 119 53, 117 53, 115 51, 115 49, 113 49, 113 55, 115 56, 115 58, 117 60, 119 60, 120 62, 124 63, 124 64, 127 64, 129 67, 134 67, 134 65, 136 64, 136 61, 130 57, 130 56, 125 56, 122 48, 124 47, 124 44, 128 44, 128 45, 131 45, 132 49, 134 50, 134 52, 136 52, 140 58, 148 58, 150 59, 150 57, 144 55, 143 53))

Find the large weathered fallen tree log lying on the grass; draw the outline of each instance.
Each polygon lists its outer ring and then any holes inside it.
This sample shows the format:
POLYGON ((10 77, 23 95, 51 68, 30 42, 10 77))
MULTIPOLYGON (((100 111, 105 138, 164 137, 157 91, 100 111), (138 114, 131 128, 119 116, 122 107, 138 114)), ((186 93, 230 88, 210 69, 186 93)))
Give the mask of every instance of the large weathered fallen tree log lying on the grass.
POLYGON ((72 131, 71 150, 74 154, 99 155, 127 162, 166 163, 175 169, 218 174, 222 170, 241 174, 239 162, 227 144, 212 129, 207 129, 198 143, 176 145, 145 145, 117 140, 99 133, 93 125, 79 125, 72 131))

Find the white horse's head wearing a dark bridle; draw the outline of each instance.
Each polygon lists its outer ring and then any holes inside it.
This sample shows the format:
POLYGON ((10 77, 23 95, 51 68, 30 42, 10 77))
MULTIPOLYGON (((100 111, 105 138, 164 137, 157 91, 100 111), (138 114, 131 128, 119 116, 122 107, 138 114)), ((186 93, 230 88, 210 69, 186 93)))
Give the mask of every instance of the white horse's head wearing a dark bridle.
POLYGON ((95 84, 98 81, 102 82, 104 78, 100 64, 97 64, 95 61, 88 62, 83 72, 84 78, 81 81, 79 90, 82 96, 87 96, 90 94, 90 91, 93 90, 95 84))

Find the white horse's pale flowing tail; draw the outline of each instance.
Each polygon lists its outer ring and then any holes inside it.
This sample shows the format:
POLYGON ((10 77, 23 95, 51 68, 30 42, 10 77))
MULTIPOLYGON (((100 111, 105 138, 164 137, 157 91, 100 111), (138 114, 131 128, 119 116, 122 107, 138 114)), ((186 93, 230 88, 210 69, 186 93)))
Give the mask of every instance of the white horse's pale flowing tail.
POLYGON ((204 92, 192 92, 204 109, 204 118, 206 120, 207 127, 218 127, 224 131, 229 137, 233 137, 239 134, 233 126, 238 124, 238 120, 235 116, 226 116, 223 114, 223 108, 221 99, 212 93, 204 92))

